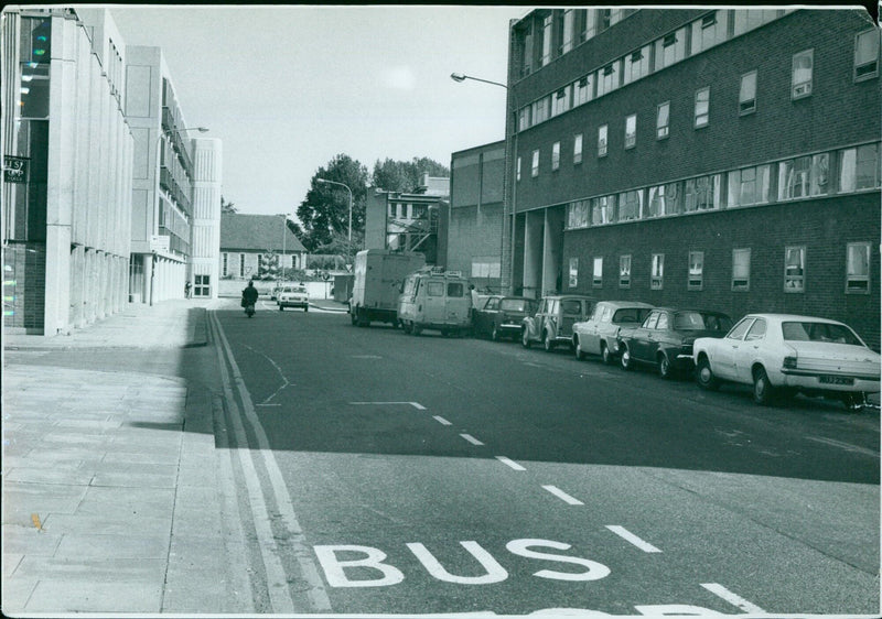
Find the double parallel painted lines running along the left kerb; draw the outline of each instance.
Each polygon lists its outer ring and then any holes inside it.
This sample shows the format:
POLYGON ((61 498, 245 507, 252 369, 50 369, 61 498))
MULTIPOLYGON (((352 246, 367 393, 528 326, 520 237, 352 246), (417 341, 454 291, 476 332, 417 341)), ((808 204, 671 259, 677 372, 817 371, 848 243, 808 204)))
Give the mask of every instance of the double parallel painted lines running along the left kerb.
POLYGON ((251 397, 245 385, 245 379, 243 378, 239 367, 236 363, 236 359, 233 356, 233 349, 230 348, 229 341, 227 340, 224 329, 220 326, 220 321, 217 318, 214 312, 211 313, 211 316, 214 322, 215 330, 218 335, 218 341, 220 343, 220 346, 217 347, 217 357, 220 361, 224 395, 230 405, 230 417, 233 419, 237 435, 238 447, 236 450, 239 454, 243 469, 247 473, 246 481, 249 481, 250 479, 250 482, 247 484, 249 495, 248 502, 250 503, 251 509, 256 510, 252 513, 256 515, 255 526, 258 528, 260 533, 258 545, 260 547, 260 553, 263 558, 263 566, 267 568, 268 576, 270 575, 270 569, 272 574, 272 578, 270 579, 268 577, 267 582, 267 589, 270 595, 272 611, 294 612, 297 610, 294 609, 294 600, 291 597, 291 591, 288 586, 287 573, 284 572, 284 567, 281 565, 282 554, 292 554, 298 567, 300 568, 301 576, 309 587, 305 594, 312 606, 312 611, 330 612, 331 600, 325 591, 324 582, 319 574, 318 566, 309 558, 312 556, 310 546, 306 544, 303 531, 300 528, 297 515, 294 514, 291 496, 288 493, 288 487, 284 485, 281 470, 279 469, 279 465, 276 461, 276 457, 273 456, 272 449, 269 446, 269 439, 267 438, 266 431, 263 430, 263 426, 260 424, 260 420, 257 416, 254 403, 251 402, 251 397), (229 372, 227 371, 224 352, 226 352, 226 361, 229 362, 229 372), (232 381, 230 373, 233 379, 232 381), (248 439, 241 422, 241 415, 238 406, 236 405, 236 401, 233 398, 232 382, 235 382, 236 389, 239 392, 239 399, 243 403, 245 417, 248 420, 251 431, 257 437, 259 447, 258 449, 251 449, 248 445, 248 439), (263 489, 251 458, 252 450, 259 454, 263 459, 263 466, 267 475, 269 476, 270 486, 272 487, 276 509, 281 517, 281 525, 288 530, 290 535, 287 540, 289 546, 286 549, 284 553, 276 544, 277 537, 271 529, 271 522, 268 513, 269 510, 263 496, 263 489))

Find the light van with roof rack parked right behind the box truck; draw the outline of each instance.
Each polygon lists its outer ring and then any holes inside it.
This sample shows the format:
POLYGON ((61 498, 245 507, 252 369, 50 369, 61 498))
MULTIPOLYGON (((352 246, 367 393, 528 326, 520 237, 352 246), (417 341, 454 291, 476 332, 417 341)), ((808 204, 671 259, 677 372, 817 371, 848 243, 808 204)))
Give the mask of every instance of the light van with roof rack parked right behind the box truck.
POLYGON ((422 329, 462 335, 471 327, 469 280, 459 271, 427 267, 405 279, 398 297, 398 322, 405 333, 422 329))

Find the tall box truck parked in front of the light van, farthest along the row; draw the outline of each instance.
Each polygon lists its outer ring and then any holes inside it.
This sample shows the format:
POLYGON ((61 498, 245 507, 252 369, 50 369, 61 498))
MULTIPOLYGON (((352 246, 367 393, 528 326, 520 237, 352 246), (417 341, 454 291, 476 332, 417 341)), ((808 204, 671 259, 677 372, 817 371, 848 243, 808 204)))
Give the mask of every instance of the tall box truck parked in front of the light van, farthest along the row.
POLYGON ((398 326, 398 295, 405 278, 422 268, 426 257, 411 251, 365 249, 355 254, 355 282, 349 300, 353 325, 372 321, 398 326))

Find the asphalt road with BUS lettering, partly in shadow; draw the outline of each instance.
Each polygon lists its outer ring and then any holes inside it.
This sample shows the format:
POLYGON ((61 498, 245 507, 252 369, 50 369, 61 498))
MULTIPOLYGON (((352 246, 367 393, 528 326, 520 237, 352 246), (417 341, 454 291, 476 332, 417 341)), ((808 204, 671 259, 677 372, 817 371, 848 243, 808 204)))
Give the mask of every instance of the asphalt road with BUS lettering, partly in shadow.
POLYGON ((879 612, 875 413, 345 314, 212 323, 266 609, 879 612))

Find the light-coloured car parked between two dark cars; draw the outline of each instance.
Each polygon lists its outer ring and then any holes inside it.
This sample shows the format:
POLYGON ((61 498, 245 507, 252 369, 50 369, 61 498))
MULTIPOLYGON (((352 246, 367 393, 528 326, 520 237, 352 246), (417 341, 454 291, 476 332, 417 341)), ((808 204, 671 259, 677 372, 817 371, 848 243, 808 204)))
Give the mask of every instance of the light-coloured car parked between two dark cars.
POLYGON ((601 301, 591 316, 572 326, 572 348, 577 359, 587 355, 600 355, 604 363, 612 363, 619 356, 619 333, 623 328, 635 328, 643 324, 653 308, 639 301, 601 301))

